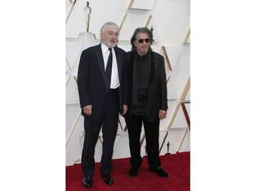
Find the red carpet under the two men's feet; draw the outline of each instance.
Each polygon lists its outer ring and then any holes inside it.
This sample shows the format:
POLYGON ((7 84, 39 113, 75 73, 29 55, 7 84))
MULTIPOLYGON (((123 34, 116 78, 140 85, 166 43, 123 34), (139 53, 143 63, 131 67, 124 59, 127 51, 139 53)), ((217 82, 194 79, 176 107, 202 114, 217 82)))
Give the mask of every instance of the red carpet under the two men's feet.
POLYGON ((83 172, 81 164, 66 167, 66 191, 79 190, 122 190, 122 191, 189 191, 190 190, 190 152, 181 152, 177 154, 160 156, 162 168, 167 171, 169 177, 158 177, 156 173, 149 171, 147 158, 143 158, 143 163, 139 169, 137 177, 130 177, 129 158, 113 160, 114 169, 111 176, 114 184, 109 186, 104 184, 100 178, 100 163, 95 166, 93 177, 94 185, 91 188, 85 188, 82 184, 83 172))

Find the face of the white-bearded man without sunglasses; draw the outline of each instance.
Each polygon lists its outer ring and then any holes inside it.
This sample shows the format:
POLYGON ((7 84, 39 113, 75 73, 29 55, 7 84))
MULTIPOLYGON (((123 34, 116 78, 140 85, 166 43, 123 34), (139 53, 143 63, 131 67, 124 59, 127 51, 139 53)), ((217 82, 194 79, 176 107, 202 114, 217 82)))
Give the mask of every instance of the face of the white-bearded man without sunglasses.
POLYGON ((109 25, 104 33, 100 33, 100 38, 107 47, 114 48, 117 45, 118 35, 117 28, 114 25, 109 25))

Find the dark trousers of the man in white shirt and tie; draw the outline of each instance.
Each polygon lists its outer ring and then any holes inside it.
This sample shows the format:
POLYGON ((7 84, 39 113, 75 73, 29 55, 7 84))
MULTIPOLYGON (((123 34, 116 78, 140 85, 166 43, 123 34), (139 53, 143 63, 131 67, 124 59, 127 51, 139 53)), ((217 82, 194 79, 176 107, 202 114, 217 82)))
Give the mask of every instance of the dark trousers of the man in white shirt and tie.
MULTIPOLYGON (((94 112, 94 105, 92 105, 94 112)), ((85 141, 83 143, 82 170, 85 176, 94 175, 94 153, 98 135, 102 126, 102 157, 100 173, 109 174, 113 170, 111 163, 113 145, 117 133, 119 117, 119 91, 105 94, 104 105, 100 116, 96 120, 85 118, 85 141)))

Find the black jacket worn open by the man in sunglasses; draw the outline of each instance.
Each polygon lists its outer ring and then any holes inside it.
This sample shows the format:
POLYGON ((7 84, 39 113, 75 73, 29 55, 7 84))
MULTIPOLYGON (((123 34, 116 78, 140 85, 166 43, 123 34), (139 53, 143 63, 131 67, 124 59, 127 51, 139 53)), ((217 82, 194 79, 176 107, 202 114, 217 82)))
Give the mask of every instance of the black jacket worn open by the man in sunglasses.
MULTIPOLYGON (((147 120, 153 121, 158 118, 159 110, 167 110, 167 83, 165 73, 165 59, 156 52, 150 53, 150 83, 147 96, 147 120)), ((132 103, 133 65, 134 56, 137 53, 133 50, 126 53, 126 65, 128 76, 128 112, 126 118, 131 116, 130 106, 132 103)))

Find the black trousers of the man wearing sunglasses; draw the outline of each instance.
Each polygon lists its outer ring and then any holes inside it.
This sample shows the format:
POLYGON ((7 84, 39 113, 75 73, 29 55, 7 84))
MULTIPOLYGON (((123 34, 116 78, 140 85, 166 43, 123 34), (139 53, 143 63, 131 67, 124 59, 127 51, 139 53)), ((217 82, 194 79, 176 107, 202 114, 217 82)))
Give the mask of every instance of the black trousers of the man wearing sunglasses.
POLYGON ((145 130, 145 139, 147 146, 147 163, 151 169, 160 167, 159 158, 159 118, 154 122, 148 122, 146 116, 132 115, 126 119, 128 127, 129 146, 130 146, 130 164, 132 167, 141 167, 141 128, 142 123, 145 130))

